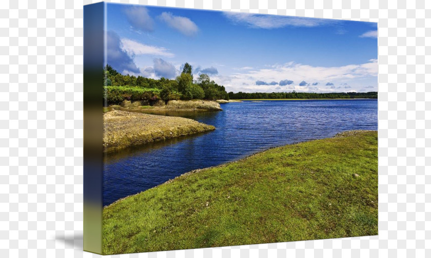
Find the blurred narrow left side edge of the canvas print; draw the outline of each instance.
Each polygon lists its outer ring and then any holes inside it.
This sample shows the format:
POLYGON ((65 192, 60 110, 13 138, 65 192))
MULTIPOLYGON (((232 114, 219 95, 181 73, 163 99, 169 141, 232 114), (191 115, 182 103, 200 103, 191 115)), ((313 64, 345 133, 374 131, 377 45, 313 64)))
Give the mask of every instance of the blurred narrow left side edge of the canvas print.
POLYGON ((84 251, 102 254, 105 3, 84 6, 84 251))

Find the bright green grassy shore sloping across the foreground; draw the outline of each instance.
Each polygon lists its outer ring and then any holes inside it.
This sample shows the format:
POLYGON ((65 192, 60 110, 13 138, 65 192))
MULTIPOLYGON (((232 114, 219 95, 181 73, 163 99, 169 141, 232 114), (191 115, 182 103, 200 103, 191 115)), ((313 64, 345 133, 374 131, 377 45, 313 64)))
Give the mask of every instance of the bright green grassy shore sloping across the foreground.
POLYGON ((378 233, 376 131, 195 170, 103 210, 104 254, 378 233))

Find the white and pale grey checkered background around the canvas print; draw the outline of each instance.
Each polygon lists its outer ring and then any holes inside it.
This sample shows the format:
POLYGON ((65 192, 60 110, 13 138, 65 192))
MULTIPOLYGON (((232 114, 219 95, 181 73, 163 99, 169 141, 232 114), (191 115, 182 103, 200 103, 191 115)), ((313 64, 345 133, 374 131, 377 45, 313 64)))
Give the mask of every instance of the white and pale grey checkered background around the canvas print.
MULTIPOLYGON (((123 257, 431 257, 430 1, 120 2, 379 23, 379 236, 123 257)), ((90 3, 0 3, 0 257, 97 256, 82 251, 90 3)))

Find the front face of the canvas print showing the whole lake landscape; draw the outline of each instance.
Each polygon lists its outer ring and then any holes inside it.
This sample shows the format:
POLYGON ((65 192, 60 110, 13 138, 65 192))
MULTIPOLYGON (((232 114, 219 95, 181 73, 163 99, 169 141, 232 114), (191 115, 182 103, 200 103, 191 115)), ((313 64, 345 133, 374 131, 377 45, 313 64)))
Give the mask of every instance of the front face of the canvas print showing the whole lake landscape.
POLYGON ((376 23, 100 11, 95 252, 378 234, 376 23))

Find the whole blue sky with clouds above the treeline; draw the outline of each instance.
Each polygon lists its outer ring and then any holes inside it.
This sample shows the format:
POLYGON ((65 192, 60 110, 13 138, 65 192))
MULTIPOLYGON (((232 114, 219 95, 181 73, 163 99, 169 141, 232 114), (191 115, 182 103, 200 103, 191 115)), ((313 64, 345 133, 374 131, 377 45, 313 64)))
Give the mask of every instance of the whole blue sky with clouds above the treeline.
POLYGON ((107 63, 174 78, 185 62, 227 91, 377 91, 377 24, 107 4, 107 63))

